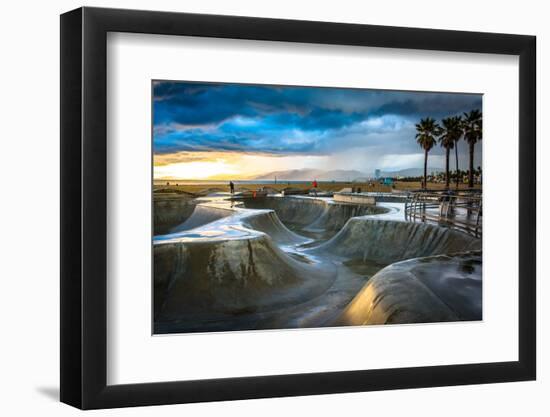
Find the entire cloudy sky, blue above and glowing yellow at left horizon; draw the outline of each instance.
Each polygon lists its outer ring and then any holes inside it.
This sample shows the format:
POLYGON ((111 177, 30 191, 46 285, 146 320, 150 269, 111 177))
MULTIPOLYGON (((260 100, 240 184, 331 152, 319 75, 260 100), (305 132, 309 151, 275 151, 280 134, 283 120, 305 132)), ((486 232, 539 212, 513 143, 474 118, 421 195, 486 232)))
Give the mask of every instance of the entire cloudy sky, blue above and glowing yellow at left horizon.
MULTIPOLYGON (((481 95, 455 93, 155 81, 153 94, 157 179, 421 168, 414 128, 420 118, 481 109, 481 95)), ((462 169, 467 160, 463 142, 462 169)), ((444 167, 439 145, 428 164, 444 167)), ((481 144, 475 165, 481 165, 481 144)))

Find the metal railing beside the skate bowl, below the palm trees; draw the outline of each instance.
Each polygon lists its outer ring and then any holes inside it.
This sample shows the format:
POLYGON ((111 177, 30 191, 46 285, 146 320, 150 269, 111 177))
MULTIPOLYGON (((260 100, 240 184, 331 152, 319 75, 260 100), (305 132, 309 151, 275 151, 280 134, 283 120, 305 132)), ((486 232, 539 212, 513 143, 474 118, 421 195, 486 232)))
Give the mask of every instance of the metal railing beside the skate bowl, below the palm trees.
POLYGON ((405 219, 482 235, 482 198, 479 191, 415 191, 405 202, 405 219))

